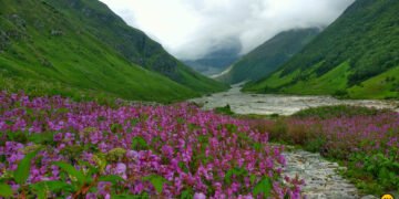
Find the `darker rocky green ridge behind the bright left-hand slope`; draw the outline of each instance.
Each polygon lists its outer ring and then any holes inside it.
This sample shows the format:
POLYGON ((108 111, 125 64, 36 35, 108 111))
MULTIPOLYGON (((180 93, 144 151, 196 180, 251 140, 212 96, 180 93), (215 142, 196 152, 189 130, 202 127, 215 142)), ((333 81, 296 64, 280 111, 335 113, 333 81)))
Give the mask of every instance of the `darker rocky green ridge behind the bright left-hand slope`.
POLYGON ((170 55, 140 30, 129 27, 98 0, 47 0, 49 4, 80 23, 92 35, 126 60, 161 73, 198 93, 223 91, 227 86, 202 76, 170 55), (89 24, 89 27, 86 27, 89 24), (99 30, 98 28, 101 27, 99 30))

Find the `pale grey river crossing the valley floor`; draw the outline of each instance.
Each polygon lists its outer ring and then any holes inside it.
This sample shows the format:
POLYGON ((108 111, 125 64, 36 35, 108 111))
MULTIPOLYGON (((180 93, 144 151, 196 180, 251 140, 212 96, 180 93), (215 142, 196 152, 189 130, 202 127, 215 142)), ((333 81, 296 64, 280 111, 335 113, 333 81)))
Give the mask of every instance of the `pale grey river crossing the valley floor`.
POLYGON ((398 101, 374 100, 337 100, 331 96, 298 96, 277 94, 249 94, 241 92, 241 84, 233 85, 227 92, 190 100, 204 105, 204 109, 213 109, 229 104, 236 114, 291 115, 300 109, 325 105, 357 105, 399 111, 398 101))

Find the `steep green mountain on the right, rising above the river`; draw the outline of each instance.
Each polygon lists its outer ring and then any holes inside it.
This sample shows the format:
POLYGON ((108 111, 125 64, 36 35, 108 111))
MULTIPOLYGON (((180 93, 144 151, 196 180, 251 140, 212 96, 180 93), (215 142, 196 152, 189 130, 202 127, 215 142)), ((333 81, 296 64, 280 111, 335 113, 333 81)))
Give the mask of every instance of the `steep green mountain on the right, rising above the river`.
POLYGON ((399 1, 357 0, 280 70, 245 91, 399 98, 399 1))

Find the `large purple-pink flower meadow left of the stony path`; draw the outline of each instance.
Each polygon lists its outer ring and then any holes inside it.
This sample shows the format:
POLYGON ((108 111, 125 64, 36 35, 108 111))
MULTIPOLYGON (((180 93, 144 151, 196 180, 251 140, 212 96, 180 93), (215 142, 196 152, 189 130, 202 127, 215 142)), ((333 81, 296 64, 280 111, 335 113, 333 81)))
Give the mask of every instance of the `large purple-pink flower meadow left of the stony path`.
POLYGON ((0 192, 20 198, 300 198, 283 147, 194 105, 0 93, 0 192))

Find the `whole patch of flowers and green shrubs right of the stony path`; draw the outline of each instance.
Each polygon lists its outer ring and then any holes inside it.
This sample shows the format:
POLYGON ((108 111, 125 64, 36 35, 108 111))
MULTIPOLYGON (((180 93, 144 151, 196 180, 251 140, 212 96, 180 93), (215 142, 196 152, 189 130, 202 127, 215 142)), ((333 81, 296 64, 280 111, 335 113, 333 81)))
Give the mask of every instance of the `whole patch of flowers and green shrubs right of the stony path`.
POLYGON ((338 160, 365 192, 399 192, 399 113, 352 106, 307 109, 277 122, 257 121, 272 140, 338 160))

